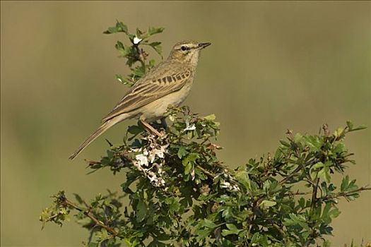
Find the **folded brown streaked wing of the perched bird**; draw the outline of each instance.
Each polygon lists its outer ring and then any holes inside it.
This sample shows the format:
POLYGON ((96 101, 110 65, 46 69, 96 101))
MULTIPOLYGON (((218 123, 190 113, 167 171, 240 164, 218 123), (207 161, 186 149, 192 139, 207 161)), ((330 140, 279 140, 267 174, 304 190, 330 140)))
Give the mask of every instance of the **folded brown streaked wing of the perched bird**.
POLYGON ((143 105, 160 97, 180 90, 192 77, 192 74, 193 71, 184 66, 159 64, 158 67, 152 68, 146 76, 138 80, 102 121, 105 122, 119 114, 143 107, 143 105))

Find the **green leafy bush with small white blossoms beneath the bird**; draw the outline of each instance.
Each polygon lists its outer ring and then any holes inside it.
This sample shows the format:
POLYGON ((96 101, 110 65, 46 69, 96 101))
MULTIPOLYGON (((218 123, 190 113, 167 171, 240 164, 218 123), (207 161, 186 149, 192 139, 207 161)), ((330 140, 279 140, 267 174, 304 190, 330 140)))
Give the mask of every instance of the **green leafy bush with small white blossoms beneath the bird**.
MULTIPOLYGON (((120 22, 108 28, 105 33, 123 32, 131 41, 116 44, 131 68, 126 78, 116 76, 120 82, 133 85, 153 67, 141 47, 161 54, 160 42, 149 38, 162 31, 137 29, 134 35, 120 22)), ((76 212, 73 217, 90 231, 86 246, 329 246, 324 237, 340 214, 338 199, 355 200, 370 189, 348 175, 341 184, 331 182, 334 173, 355 164, 344 138, 363 126, 348 121, 332 133, 326 124, 317 135, 287 131, 274 154, 229 169, 212 142, 219 132, 214 115, 170 107, 167 116, 172 124, 163 137, 129 126, 122 145, 88 161, 92 171, 124 172, 122 193, 108 191, 89 202, 75 194, 72 202, 60 191, 42 211, 42 226, 61 225, 76 212)))

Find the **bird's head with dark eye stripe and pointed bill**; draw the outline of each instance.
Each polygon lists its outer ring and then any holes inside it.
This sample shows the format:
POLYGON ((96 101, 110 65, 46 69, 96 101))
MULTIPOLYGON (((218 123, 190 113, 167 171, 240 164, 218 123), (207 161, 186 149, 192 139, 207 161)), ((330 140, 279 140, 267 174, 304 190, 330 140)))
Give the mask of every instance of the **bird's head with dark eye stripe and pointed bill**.
POLYGON ((169 59, 196 66, 199 61, 201 49, 208 47, 211 43, 199 43, 195 41, 182 41, 175 44, 170 52, 169 59))

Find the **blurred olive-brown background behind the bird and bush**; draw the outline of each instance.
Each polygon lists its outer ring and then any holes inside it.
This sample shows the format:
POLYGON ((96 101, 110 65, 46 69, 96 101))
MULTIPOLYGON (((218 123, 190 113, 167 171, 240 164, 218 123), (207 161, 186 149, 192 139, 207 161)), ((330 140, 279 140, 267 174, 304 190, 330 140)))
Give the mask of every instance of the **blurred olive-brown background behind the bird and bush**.
MULTIPOLYGON (((127 90, 114 79, 128 72, 114 49, 124 36, 102 34, 116 19, 164 27, 165 56, 180 40, 212 42, 186 104, 216 114, 226 164, 274 152, 287 128, 371 126, 370 2, 1 1, 1 246, 81 246, 74 222, 40 230, 49 195, 119 189, 124 174, 87 176, 83 159, 135 121, 67 159, 127 90)), ((370 184, 370 128, 346 143, 358 162, 346 172, 370 184)), ((371 193, 339 207, 333 246, 371 241, 371 193)))

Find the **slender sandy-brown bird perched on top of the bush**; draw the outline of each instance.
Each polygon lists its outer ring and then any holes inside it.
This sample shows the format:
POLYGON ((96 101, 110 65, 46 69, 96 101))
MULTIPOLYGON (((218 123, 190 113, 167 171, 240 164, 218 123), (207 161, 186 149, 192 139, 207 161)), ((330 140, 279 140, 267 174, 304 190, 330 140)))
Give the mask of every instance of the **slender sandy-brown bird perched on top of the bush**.
POLYGON ((161 136, 151 122, 163 119, 167 107, 178 107, 189 95, 201 49, 209 42, 193 40, 178 42, 167 59, 151 68, 102 119, 100 127, 91 134, 69 159, 74 159, 107 129, 126 119, 139 119, 143 126, 161 136))

